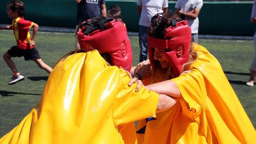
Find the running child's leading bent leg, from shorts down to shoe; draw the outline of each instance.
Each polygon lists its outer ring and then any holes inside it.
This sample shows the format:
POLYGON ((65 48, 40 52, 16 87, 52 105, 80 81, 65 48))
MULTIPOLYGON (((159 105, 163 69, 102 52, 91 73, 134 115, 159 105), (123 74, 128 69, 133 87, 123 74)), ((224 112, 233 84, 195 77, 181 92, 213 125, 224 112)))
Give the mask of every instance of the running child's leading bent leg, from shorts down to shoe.
POLYGON ((3 54, 3 58, 5 60, 5 63, 8 65, 8 67, 11 69, 12 73, 14 75, 20 75, 21 73, 19 73, 18 69, 16 68, 16 65, 14 64, 14 62, 11 60, 12 57, 20 57, 19 55, 17 55, 17 47, 12 47, 10 48, 6 53, 3 54), (10 54, 9 54, 10 53, 10 54))

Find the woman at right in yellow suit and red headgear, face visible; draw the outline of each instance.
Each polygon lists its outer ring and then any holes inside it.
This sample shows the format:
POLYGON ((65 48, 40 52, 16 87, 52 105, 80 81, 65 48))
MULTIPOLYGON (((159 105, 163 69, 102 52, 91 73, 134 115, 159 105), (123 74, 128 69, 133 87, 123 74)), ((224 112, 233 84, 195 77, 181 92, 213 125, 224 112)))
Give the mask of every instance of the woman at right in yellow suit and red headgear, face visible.
POLYGON ((148 48, 149 61, 138 64, 133 76, 140 75, 148 90, 177 102, 156 117, 139 120, 138 144, 256 142, 255 128, 218 60, 191 43, 187 20, 171 12, 153 16, 148 48))

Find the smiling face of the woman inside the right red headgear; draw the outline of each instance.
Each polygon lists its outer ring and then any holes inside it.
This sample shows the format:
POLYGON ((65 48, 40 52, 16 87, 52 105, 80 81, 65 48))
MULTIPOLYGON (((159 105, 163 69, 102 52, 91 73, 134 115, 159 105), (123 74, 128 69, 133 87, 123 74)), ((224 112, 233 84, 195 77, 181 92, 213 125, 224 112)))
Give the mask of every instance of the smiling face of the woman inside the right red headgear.
POLYGON ((170 62, 165 54, 165 50, 162 48, 153 48, 152 50, 154 51, 154 59, 159 61, 162 68, 167 69, 170 66, 170 62))

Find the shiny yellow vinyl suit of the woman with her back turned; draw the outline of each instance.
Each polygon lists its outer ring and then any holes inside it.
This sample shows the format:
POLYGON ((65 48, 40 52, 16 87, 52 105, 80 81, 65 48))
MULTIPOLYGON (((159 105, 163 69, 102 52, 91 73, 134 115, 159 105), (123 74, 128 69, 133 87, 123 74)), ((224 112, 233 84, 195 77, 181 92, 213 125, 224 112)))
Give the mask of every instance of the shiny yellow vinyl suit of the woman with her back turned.
POLYGON ((40 101, 0 144, 134 144, 134 121, 155 115, 159 96, 144 87, 135 92, 129 80, 96 50, 70 55, 54 66, 40 101))

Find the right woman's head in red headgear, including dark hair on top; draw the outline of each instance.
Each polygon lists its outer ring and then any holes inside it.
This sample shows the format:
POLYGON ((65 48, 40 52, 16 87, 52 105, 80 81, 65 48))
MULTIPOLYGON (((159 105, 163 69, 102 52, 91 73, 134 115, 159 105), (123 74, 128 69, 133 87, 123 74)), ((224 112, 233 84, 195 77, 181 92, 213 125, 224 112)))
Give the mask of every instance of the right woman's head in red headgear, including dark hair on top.
POLYGON ((158 60, 161 67, 167 68, 164 59, 168 58, 173 77, 178 77, 182 73, 183 64, 189 60, 190 43, 191 28, 187 20, 181 20, 172 13, 157 14, 152 17, 148 31, 148 52, 152 67, 158 60), (156 48, 162 49, 163 54, 154 52, 156 48))

